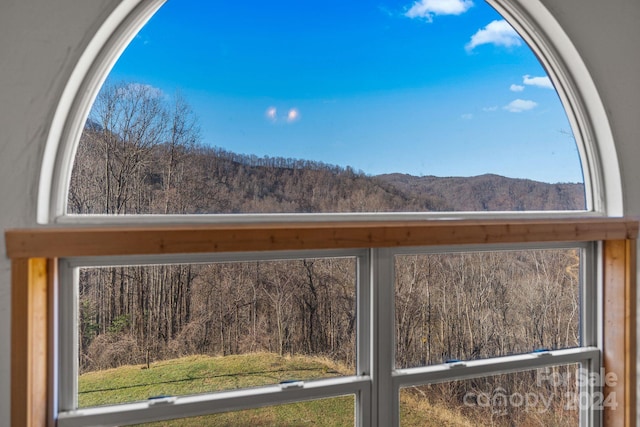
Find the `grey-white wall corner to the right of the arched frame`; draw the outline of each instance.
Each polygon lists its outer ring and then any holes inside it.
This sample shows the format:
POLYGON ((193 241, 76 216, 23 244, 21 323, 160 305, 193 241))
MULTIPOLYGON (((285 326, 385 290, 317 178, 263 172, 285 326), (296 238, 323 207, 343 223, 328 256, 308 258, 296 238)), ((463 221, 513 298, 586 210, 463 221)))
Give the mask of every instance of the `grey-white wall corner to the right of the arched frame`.
POLYGON ((618 151, 625 215, 640 215, 640 2, 541 0, 581 54, 618 151))

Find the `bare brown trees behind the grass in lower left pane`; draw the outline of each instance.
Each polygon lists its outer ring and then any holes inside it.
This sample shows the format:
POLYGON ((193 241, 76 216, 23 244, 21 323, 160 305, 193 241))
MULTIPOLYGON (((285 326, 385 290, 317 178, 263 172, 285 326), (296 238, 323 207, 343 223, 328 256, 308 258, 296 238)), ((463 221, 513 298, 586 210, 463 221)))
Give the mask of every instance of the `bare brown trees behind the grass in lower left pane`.
POLYGON ((319 258, 82 269, 81 372, 261 351, 355 366, 355 268, 319 258))

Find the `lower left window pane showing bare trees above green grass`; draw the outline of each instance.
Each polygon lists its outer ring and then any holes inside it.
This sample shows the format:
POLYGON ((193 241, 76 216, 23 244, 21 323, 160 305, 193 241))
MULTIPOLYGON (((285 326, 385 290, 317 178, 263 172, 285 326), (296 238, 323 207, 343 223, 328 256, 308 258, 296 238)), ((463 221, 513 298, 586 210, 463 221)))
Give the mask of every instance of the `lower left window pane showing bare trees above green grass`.
POLYGON ((79 406, 355 374, 356 261, 80 270, 79 406))

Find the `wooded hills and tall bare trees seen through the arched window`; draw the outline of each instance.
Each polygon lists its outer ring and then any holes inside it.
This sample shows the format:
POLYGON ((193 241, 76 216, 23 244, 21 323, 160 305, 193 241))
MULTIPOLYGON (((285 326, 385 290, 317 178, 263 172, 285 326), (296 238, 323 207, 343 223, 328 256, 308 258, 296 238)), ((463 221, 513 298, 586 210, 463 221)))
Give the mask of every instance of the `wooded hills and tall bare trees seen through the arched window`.
POLYGON ((496 175, 369 176, 304 159, 205 145, 180 98, 142 85, 105 87, 77 150, 75 214, 522 211, 584 209, 582 184, 496 175))

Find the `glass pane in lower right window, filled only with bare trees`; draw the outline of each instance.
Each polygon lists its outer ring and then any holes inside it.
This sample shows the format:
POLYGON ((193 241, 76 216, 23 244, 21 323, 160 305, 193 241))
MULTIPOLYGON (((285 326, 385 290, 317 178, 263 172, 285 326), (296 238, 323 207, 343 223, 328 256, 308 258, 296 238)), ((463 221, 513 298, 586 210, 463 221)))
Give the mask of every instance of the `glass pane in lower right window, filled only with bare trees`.
POLYGON ((396 256, 396 366, 578 346, 580 253, 396 256))

